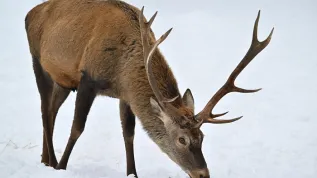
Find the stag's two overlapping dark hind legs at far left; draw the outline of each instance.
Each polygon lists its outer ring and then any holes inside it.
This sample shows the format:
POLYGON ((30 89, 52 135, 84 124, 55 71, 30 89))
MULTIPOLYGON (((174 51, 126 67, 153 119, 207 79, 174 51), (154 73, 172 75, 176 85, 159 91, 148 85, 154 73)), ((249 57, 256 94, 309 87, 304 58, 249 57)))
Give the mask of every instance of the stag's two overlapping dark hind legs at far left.
POLYGON ((33 70, 41 97, 43 124, 43 150, 41 162, 47 166, 57 165, 53 146, 53 128, 57 110, 66 99, 68 93, 55 87, 51 78, 43 71, 38 58, 33 57, 33 70), (66 94, 67 93, 67 94, 66 94), (59 105, 57 107, 57 105, 59 105))

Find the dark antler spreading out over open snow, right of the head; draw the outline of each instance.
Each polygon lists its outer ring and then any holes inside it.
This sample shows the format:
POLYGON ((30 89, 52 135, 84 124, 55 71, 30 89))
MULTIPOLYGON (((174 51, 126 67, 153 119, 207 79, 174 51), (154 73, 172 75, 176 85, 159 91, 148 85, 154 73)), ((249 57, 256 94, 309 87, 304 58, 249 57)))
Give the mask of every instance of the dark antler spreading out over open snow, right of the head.
POLYGON ((227 82, 209 100, 205 108, 195 116, 197 120, 200 120, 200 122, 197 124, 197 127, 200 127, 203 123, 222 124, 222 123, 231 123, 241 119, 242 116, 234 118, 234 119, 229 119, 229 120, 217 120, 215 118, 223 116, 227 114, 228 112, 222 113, 222 114, 212 114, 212 110, 214 109, 216 104, 221 100, 221 98, 230 92, 254 93, 261 90, 261 89, 246 90, 234 85, 234 82, 236 78, 238 77, 238 75, 241 73, 241 71, 252 61, 252 59, 257 54, 259 54, 269 44, 271 40, 274 28, 272 29, 270 35, 264 41, 260 42, 258 40, 259 18, 260 18, 260 11, 258 12, 258 16, 254 23, 252 43, 248 52, 246 53, 244 58, 241 60, 241 62, 238 64, 238 66, 234 69, 234 71, 231 73, 227 82))

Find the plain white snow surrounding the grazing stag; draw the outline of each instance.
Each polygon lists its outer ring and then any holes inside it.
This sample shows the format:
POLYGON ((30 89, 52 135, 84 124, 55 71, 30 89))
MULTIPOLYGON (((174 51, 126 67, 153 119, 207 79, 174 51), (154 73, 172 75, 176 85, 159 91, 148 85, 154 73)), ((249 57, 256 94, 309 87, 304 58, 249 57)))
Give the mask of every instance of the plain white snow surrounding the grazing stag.
MULTIPOLYGON (((66 171, 40 163, 40 98, 24 31, 26 13, 40 0, 0 2, 0 177, 120 178, 125 151, 118 101, 97 98, 66 171)), ((129 0, 150 17, 157 36, 174 27, 160 46, 182 92, 191 88, 196 110, 222 85, 247 51, 258 9, 260 40, 275 27, 271 44, 239 77, 256 94, 230 94, 216 108, 236 123, 204 125, 203 152, 213 178, 317 177, 317 4, 313 0, 129 0)), ((75 93, 57 116, 58 159, 73 119, 75 93)), ((187 177, 136 126, 135 156, 141 178, 187 177)))

